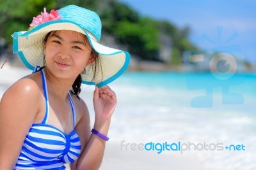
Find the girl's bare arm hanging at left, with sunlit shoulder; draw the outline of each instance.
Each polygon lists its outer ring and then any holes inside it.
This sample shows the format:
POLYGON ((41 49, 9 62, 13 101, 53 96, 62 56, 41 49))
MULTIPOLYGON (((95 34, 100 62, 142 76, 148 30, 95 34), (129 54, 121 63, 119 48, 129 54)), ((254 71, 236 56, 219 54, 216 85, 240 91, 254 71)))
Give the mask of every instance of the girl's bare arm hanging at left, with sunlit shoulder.
POLYGON ((0 103, 0 169, 14 168, 38 113, 39 93, 35 81, 26 78, 4 93, 0 103))

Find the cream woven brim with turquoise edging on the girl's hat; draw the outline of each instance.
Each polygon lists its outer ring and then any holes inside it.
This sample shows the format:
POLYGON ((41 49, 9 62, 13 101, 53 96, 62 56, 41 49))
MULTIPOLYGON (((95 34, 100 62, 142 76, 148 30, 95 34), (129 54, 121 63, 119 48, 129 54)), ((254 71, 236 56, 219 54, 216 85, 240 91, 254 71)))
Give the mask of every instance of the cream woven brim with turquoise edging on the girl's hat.
POLYGON ((101 45, 89 31, 82 29, 75 22, 54 20, 40 24, 25 32, 15 32, 13 36, 13 52, 18 53, 26 67, 33 70, 36 66, 44 65, 42 41, 50 31, 72 30, 85 34, 92 48, 99 53, 100 66, 93 78, 93 64, 86 67, 86 74, 81 74, 82 83, 102 87, 120 76, 129 66, 128 52, 101 45))

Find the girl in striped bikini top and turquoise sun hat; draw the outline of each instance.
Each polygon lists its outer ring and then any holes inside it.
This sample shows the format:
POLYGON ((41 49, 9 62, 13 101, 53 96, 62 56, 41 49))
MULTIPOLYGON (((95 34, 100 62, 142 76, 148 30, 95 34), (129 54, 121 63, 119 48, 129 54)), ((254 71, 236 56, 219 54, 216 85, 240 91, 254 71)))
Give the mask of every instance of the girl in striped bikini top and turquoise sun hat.
POLYGON ((1 99, 0 169, 99 169, 116 106, 106 84, 129 53, 100 45, 99 16, 79 6, 44 9, 30 26, 13 34, 13 52, 34 71, 1 99), (92 131, 81 83, 95 85, 92 131))

